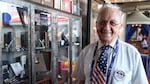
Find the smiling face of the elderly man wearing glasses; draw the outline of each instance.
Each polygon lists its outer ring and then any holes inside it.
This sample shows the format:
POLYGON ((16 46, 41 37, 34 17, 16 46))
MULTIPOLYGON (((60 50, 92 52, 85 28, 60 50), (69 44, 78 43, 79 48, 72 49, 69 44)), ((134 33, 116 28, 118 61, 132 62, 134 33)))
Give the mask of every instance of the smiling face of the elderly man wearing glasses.
POLYGON ((96 28, 99 39, 104 43, 111 43, 118 37, 122 27, 121 12, 112 8, 104 8, 99 13, 96 28))

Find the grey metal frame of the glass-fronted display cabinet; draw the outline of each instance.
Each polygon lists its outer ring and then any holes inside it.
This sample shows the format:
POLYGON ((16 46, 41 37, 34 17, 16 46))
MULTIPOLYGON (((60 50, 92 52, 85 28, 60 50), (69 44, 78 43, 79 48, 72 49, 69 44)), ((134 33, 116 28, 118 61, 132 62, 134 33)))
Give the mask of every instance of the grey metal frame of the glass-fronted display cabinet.
MULTIPOLYGON (((36 82, 36 73, 35 73, 35 26, 34 26, 34 10, 35 9, 40 9, 43 11, 46 11, 48 13, 50 13, 52 15, 52 58, 51 58, 51 72, 52 72, 52 84, 58 84, 58 43, 57 43, 57 15, 62 15, 62 16, 66 16, 68 17, 69 20, 69 35, 70 35, 70 44, 69 45, 69 59, 70 59, 70 72, 69 72, 69 78, 72 79, 71 74, 72 74, 72 19, 78 19, 80 20, 80 49, 82 48, 82 21, 81 21, 81 17, 78 15, 74 15, 74 14, 70 14, 68 12, 64 12, 58 9, 54 9, 52 7, 46 6, 46 5, 42 5, 39 3, 35 3, 33 1, 22 1, 22 0, 1 0, 4 2, 8 2, 8 3, 12 3, 12 4, 18 4, 18 5, 23 5, 28 7, 28 15, 29 15, 29 20, 28 20, 28 57, 29 57, 29 61, 28 61, 28 65, 29 65, 29 84, 35 84, 36 82)), ((0 46, 2 46, 1 41, 0 41, 0 46)), ((80 50, 79 50, 80 51, 80 50)), ((2 76, 2 49, 0 48, 0 84, 2 84, 3 81, 3 76, 2 76)), ((71 84, 70 80, 70 83, 71 84)))

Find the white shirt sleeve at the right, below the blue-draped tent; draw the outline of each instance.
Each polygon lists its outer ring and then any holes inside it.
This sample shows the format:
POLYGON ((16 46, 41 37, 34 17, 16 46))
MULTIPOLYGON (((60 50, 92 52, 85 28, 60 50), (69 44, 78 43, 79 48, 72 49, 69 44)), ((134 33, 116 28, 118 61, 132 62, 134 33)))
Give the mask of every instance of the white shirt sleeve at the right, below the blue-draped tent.
POLYGON ((141 55, 138 54, 135 58, 137 61, 135 62, 134 73, 132 84, 148 84, 148 80, 146 77, 146 72, 144 70, 143 62, 141 59, 141 55))

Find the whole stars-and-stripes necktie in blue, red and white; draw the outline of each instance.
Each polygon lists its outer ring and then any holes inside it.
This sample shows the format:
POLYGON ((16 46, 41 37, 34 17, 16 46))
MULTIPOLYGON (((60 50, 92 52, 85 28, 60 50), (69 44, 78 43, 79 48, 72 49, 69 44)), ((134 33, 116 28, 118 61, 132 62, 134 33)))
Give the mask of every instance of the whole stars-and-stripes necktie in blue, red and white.
POLYGON ((92 84, 105 84, 105 74, 107 69, 107 50, 109 46, 101 47, 102 52, 100 58, 97 60, 92 71, 92 84))

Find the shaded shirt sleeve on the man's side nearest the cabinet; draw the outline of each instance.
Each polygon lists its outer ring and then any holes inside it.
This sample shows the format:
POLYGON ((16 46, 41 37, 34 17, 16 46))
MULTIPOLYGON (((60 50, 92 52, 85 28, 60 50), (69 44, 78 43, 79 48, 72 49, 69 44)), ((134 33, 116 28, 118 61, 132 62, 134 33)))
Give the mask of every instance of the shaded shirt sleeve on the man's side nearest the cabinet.
POLYGON ((84 76, 84 52, 81 51, 79 58, 77 60, 77 64, 73 71, 72 77, 75 77, 77 80, 85 80, 84 76))

